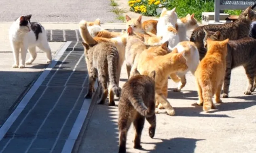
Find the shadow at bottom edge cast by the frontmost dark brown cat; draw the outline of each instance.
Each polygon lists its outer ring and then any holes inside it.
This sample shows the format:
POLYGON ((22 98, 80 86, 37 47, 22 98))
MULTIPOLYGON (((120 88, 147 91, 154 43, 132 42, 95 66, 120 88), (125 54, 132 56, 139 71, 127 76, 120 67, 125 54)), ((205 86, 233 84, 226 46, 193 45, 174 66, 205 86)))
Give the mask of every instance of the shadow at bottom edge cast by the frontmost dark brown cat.
POLYGON ((173 139, 159 139, 162 142, 158 143, 141 143, 142 149, 144 151, 150 151, 150 153, 194 153, 197 141, 202 141, 204 139, 191 139, 191 138, 173 138, 173 139), (154 150, 143 149, 143 144, 154 144, 154 150))

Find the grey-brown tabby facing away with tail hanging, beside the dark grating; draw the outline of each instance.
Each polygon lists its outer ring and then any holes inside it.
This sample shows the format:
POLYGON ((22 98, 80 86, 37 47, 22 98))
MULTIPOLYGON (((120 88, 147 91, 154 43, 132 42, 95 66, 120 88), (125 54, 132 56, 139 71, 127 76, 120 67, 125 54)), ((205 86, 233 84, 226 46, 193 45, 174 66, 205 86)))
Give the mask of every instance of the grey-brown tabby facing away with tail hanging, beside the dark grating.
MULTIPOLYGON (((82 42, 85 48, 85 58, 88 61, 89 85, 85 98, 91 98, 93 94, 93 85, 98 77, 99 87, 102 93, 98 101, 104 104, 108 96, 108 84, 111 91, 120 97, 121 88, 118 87, 118 79, 116 77, 116 67, 118 67, 119 55, 116 47, 110 42, 101 42, 95 45, 88 45, 82 42)), ((115 105, 114 96, 110 93, 109 105, 115 105)))

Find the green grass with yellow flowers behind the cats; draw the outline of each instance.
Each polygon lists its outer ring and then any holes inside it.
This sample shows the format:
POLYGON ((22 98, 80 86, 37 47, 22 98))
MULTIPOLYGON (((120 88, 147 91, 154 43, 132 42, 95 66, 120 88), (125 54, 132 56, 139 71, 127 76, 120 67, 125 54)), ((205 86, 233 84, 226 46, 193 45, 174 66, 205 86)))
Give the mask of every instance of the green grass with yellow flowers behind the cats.
MULTIPOLYGON (((166 7, 171 10, 176 7, 178 17, 195 13, 195 18, 201 21, 202 12, 214 12, 214 0, 129 0, 130 10, 145 16, 157 16, 156 9, 166 7), (161 5, 160 5, 161 4, 161 5)), ((239 15, 241 10, 225 10, 231 15, 239 15)))

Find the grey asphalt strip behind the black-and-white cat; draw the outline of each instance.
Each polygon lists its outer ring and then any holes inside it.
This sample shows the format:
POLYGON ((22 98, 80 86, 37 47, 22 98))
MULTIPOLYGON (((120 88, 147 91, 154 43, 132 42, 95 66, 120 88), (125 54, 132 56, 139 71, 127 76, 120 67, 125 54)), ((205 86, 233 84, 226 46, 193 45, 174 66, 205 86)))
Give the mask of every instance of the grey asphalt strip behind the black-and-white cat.
POLYGON ((22 14, 32 14, 32 21, 76 22, 81 19, 121 22, 110 12, 110 0, 1 0, 0 21, 10 22, 22 14), (13 10, 13 11, 10 11, 13 10), (14 11, 15 10, 15 11, 14 11))

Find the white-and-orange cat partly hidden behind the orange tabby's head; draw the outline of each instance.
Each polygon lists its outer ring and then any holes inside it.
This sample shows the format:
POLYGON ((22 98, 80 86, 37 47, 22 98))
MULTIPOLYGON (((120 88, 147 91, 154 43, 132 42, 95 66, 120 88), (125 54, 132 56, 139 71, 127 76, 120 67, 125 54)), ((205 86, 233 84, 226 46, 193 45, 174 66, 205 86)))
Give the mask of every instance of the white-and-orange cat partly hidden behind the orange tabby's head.
POLYGON ((176 72, 170 74, 170 78, 174 82, 179 82, 178 87, 173 89, 173 91, 180 91, 186 85, 185 74, 190 71, 193 75, 199 64, 199 53, 195 43, 191 41, 182 41, 175 46, 178 52, 184 52, 184 57, 187 60, 188 69, 183 72, 176 72), (177 77, 178 76, 178 77, 177 77))

